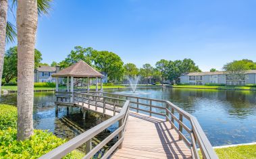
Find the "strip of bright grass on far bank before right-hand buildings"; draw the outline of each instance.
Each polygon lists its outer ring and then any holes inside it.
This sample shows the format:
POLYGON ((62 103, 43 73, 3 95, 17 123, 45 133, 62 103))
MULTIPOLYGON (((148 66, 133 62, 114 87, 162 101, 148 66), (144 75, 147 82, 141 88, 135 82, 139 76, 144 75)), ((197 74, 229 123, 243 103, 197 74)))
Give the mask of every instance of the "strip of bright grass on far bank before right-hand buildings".
POLYGON ((256 88, 248 86, 172 86, 172 88, 195 88, 195 89, 215 89, 215 90, 256 90, 256 88))

